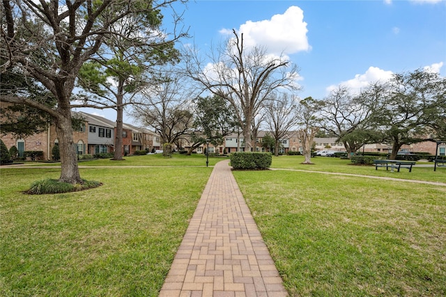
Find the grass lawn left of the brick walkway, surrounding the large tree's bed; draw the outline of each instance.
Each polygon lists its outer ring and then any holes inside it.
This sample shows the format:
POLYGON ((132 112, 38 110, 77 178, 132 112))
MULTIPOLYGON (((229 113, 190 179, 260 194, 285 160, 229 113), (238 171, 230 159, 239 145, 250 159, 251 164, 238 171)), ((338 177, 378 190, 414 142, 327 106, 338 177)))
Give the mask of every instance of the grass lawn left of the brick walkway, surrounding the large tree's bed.
POLYGON ((1 168, 0 296, 157 296, 211 170, 82 168, 104 185, 24 195, 59 168, 1 168))

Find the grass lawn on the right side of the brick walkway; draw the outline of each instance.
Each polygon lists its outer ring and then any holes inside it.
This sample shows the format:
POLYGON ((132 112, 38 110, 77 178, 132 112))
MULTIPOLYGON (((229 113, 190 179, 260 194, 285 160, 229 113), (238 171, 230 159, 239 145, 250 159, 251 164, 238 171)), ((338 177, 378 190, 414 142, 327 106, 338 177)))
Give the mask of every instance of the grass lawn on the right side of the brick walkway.
MULTIPOLYGON (((273 159, 273 167, 301 169, 291 157, 273 159)), ((307 167, 332 171, 337 161, 307 167)), ((347 168, 378 174, 339 171, 347 168)), ((446 296, 445 186, 286 170, 233 174, 291 296, 446 296)))

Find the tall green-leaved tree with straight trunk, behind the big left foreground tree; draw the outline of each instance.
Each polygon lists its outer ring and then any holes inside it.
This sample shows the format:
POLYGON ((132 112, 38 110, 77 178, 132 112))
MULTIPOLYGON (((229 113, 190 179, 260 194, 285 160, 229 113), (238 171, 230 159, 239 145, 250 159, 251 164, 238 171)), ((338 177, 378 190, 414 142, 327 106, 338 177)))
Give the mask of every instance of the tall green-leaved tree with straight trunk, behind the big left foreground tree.
MULTIPOLYGON (((149 2, 139 3, 150 6, 149 2)), ((116 110, 116 139, 114 159, 123 156, 123 111, 126 105, 133 104, 132 98, 143 88, 150 78, 145 74, 153 65, 178 61, 175 40, 167 40, 161 31, 160 10, 141 10, 126 17, 110 28, 114 34, 105 38, 102 54, 94 61, 84 63, 79 72, 79 86, 95 96, 84 94, 85 106, 116 110), (139 35, 135 35, 139 32, 139 35)), ((183 36, 181 34, 180 36, 183 36)), ((180 38, 177 36, 176 39, 180 38)))

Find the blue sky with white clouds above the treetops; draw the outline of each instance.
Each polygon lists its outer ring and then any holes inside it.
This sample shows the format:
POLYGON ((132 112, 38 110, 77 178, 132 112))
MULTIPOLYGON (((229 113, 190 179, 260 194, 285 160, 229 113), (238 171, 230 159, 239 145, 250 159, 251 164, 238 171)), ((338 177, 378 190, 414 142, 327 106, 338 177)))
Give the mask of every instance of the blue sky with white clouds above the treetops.
POLYGON ((340 83, 359 89, 417 68, 446 75, 444 0, 196 0, 183 22, 192 36, 183 42, 201 51, 236 29, 249 44, 283 52, 300 67, 302 98, 323 99, 340 83))

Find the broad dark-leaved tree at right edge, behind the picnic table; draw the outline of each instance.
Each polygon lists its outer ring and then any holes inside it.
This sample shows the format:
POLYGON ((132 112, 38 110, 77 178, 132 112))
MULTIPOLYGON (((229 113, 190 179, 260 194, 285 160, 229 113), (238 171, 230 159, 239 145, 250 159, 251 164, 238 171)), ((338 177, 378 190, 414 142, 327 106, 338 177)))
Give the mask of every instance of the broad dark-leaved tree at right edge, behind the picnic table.
POLYGON ((381 141, 392 146, 391 159, 402 145, 444 133, 445 81, 434 72, 415 70, 394 74, 387 83, 387 95, 377 100, 373 121, 381 141))

